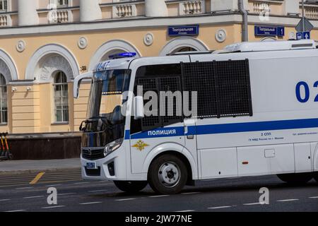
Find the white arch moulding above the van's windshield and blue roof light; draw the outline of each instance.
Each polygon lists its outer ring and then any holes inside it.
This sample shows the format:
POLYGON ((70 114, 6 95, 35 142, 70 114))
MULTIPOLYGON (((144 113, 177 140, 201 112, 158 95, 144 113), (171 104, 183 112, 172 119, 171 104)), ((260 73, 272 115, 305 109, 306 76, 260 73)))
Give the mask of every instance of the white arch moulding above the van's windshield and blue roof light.
POLYGON ((139 50, 133 44, 124 40, 111 40, 102 44, 102 46, 100 46, 95 52, 90 60, 88 71, 93 71, 95 66, 100 63, 102 58, 114 50, 122 50, 122 52, 136 52, 136 57, 141 57, 139 50))

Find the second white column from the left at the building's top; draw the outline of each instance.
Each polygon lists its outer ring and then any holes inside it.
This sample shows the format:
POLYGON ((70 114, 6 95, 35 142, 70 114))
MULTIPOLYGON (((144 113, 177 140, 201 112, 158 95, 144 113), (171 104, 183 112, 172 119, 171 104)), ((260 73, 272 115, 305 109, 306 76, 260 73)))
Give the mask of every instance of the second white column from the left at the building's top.
POLYGON ((80 18, 82 22, 102 19, 102 10, 99 2, 99 0, 80 1, 80 18))

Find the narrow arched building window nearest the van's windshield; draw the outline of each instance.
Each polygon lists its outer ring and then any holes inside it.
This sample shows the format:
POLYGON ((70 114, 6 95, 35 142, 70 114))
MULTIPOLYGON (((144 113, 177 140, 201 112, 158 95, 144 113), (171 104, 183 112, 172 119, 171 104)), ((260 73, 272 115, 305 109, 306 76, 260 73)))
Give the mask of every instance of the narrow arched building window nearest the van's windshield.
POLYGON ((69 85, 64 72, 54 76, 55 122, 69 122, 69 85))

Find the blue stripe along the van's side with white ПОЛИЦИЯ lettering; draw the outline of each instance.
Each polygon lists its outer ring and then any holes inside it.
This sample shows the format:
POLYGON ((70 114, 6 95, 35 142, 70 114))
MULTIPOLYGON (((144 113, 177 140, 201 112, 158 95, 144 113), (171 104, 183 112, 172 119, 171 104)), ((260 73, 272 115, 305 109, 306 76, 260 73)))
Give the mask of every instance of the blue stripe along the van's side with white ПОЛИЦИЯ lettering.
MULTIPOLYGON (((282 121, 258 121, 258 122, 244 122, 235 124, 215 124, 215 125, 203 125, 203 126, 189 126, 187 135, 206 135, 206 134, 220 134, 220 133, 243 133, 253 131, 273 131, 284 129, 307 129, 318 128, 318 119, 293 119, 282 121)), ((129 139, 130 131, 126 131, 125 139, 129 139)), ((158 137, 170 137, 170 136, 184 136, 184 127, 169 127, 160 128, 153 131, 146 131, 142 133, 136 133, 131 136, 132 139, 140 138, 158 138, 158 137), (167 131, 175 130, 176 133, 167 133, 167 131), (153 135, 153 134, 159 135, 153 135)))

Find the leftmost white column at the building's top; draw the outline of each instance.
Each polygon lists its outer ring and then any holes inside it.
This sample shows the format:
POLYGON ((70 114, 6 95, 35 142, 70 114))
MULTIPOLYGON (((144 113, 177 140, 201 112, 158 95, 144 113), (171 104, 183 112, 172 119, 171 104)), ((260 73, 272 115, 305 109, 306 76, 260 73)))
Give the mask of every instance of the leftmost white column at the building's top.
POLYGON ((18 0, 18 24, 19 26, 39 24, 37 0, 18 0))

